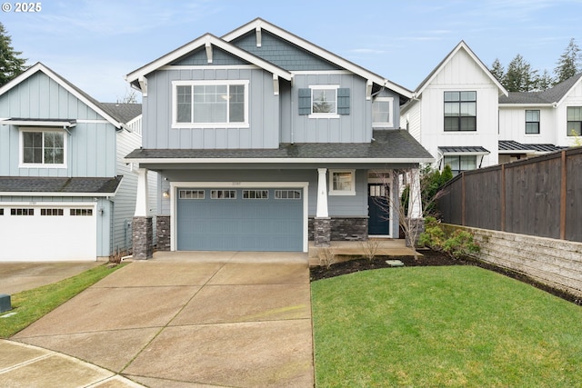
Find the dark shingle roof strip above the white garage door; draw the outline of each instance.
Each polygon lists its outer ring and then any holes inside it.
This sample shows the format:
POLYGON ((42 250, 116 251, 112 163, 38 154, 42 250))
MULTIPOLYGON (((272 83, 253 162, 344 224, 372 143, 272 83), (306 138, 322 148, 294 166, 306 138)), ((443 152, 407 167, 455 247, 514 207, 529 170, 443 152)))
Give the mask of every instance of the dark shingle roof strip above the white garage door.
POLYGON ((0 176, 0 193, 114 194, 121 178, 0 176))

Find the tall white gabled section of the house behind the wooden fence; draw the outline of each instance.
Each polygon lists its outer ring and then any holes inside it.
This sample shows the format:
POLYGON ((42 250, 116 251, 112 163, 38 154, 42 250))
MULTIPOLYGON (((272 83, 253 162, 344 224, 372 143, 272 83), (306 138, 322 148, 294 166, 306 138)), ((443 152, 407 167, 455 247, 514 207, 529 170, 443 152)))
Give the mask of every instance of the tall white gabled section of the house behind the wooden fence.
POLYGON ((461 41, 400 110, 403 125, 453 174, 498 163, 498 99, 506 89, 461 41))

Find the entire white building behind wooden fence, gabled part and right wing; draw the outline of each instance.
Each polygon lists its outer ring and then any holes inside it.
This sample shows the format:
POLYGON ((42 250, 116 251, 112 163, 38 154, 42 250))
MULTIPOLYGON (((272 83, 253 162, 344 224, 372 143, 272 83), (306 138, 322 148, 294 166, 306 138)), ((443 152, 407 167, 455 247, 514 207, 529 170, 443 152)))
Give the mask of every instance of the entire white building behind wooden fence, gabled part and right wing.
POLYGON ((582 75, 544 92, 508 93, 460 42, 416 88, 401 122, 453 174, 579 143, 582 75))

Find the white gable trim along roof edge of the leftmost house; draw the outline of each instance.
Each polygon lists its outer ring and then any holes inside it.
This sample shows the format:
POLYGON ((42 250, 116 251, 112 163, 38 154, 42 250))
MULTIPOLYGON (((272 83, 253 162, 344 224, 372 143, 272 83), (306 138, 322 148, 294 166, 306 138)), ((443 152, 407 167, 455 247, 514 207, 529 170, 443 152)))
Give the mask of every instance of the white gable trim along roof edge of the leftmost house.
POLYGON ((71 84, 61 75, 57 75, 54 71, 46 67, 45 65, 41 64, 40 62, 36 63, 35 65, 29 67, 24 73, 21 75, 16 76, 7 84, 0 87, 0 95, 4 95, 11 89, 15 88, 15 86, 20 85, 28 78, 37 75, 43 74, 53 80, 56 84, 62 86, 68 93, 74 95, 77 99, 82 101, 84 104, 89 106, 89 108, 93 109, 95 113, 99 114, 100 116, 104 117, 106 121, 113 124, 116 128, 121 128, 124 126, 123 122, 119 120, 115 114, 111 114, 103 104, 97 102, 93 97, 87 95, 84 91, 76 87, 75 85, 71 84))

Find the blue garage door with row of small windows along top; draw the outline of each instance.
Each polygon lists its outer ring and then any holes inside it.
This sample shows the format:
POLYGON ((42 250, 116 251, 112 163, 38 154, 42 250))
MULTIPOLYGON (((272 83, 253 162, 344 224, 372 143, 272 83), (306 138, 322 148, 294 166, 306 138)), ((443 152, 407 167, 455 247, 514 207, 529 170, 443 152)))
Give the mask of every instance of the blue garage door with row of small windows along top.
POLYGON ((301 189, 178 188, 178 251, 303 251, 301 189))

